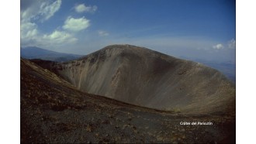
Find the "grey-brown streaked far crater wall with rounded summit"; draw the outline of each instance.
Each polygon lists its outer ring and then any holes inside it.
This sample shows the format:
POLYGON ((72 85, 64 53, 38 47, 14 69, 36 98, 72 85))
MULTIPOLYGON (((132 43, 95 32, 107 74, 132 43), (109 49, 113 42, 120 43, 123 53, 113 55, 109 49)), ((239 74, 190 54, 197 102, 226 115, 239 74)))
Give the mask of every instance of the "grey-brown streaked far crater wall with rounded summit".
POLYGON ((52 70, 81 91, 148 108, 191 113, 235 108, 235 87, 219 71, 137 46, 106 46, 52 70))

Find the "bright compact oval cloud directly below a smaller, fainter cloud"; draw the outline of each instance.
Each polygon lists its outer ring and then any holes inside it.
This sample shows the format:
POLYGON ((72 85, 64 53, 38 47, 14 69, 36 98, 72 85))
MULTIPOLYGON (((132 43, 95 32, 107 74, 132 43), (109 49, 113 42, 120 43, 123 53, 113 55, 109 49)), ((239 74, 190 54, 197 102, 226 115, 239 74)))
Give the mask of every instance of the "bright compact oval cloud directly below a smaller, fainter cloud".
POLYGON ((82 17, 80 19, 74 19, 69 16, 64 22, 64 26, 62 26, 62 28, 73 32, 78 32, 80 30, 88 28, 88 26, 90 26, 90 20, 85 19, 85 17, 82 17))

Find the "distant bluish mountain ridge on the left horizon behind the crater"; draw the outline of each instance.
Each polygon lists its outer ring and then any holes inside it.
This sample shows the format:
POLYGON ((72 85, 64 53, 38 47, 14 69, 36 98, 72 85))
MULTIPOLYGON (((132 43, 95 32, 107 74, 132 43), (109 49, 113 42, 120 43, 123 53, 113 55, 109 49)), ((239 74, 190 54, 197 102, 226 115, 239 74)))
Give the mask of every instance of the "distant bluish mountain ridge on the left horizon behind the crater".
POLYGON ((20 49, 20 57, 26 59, 52 60, 56 62, 64 62, 75 60, 82 55, 70 53, 58 53, 51 50, 44 50, 36 46, 23 47, 20 49))

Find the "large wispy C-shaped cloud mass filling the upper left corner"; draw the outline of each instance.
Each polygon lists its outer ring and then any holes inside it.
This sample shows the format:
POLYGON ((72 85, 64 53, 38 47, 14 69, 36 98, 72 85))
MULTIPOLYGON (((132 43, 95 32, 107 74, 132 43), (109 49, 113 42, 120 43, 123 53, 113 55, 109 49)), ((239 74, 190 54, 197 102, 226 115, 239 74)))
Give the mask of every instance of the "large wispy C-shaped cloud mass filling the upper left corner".
POLYGON ((21 44, 22 46, 53 47, 75 43, 78 39, 71 33, 54 30, 43 33, 37 22, 45 22, 61 8, 61 0, 32 1, 24 0, 21 4, 21 44))

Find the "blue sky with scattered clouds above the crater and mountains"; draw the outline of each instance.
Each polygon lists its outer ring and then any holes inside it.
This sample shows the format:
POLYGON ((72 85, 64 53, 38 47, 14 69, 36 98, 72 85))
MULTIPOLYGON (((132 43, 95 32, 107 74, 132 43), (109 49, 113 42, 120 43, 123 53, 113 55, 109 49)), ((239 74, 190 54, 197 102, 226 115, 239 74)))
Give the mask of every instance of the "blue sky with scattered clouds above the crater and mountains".
POLYGON ((21 0, 21 45, 85 55, 127 43, 234 63, 235 7, 233 0, 21 0))

